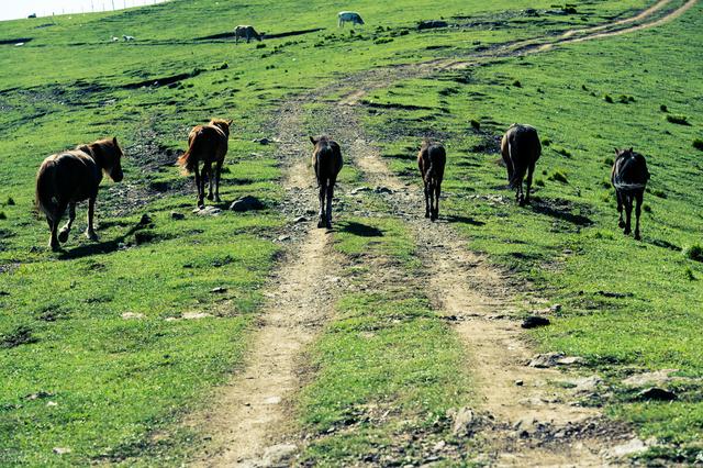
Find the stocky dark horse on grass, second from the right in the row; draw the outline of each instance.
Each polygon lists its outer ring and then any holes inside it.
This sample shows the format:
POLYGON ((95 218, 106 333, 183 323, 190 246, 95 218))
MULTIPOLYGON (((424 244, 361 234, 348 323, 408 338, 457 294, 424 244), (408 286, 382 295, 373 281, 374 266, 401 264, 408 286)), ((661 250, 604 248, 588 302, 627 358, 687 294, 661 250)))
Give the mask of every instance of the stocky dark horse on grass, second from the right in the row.
POLYGON ((535 163, 542 155, 542 143, 535 127, 514 123, 507 129, 501 141, 501 154, 507 168, 510 187, 515 189, 515 200, 523 207, 529 203, 532 176, 535 163), (523 179, 527 172, 527 190, 523 192, 523 179))

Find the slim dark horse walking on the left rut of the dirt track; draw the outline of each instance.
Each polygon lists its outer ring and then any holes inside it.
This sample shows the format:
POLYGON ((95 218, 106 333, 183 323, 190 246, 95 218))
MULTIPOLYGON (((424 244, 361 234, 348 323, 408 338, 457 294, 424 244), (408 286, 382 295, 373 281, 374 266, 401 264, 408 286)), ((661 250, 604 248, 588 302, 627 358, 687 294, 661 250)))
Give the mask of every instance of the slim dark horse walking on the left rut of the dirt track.
POLYGON ((342 151, 337 142, 328 136, 310 137, 315 146, 312 152, 312 167, 317 177, 320 187, 320 221, 317 227, 332 227, 332 199, 334 198, 334 185, 337 175, 342 170, 342 151), (325 210, 326 200, 326 210, 325 210))

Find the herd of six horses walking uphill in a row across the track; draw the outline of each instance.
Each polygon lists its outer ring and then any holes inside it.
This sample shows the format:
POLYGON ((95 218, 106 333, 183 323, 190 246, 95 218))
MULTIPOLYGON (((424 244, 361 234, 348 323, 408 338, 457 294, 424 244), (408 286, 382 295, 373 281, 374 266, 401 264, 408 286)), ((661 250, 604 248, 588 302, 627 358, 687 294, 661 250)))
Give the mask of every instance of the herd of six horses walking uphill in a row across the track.
MULTIPOLYGON (((231 124, 231 120, 212 119, 205 125, 194 126, 188 135, 188 149, 177 160, 185 174, 194 176, 200 209, 204 208, 205 181, 210 185, 208 200, 221 201, 220 177, 227 154, 231 124)), ((310 141, 313 144, 312 167, 320 190, 317 227, 331 229, 334 187, 343 166, 342 148, 326 135, 311 136, 310 141)), ((618 225, 624 229, 625 234, 632 232, 632 211, 636 202, 635 238, 639 239, 639 215, 649 179, 647 163, 644 156, 635 153, 633 148, 615 149, 615 153, 611 182, 617 197, 618 225)), ((533 174, 542 155, 537 131, 531 125, 511 125, 501 141, 501 155, 507 169, 510 187, 515 190, 516 202, 520 205, 529 203, 533 174), (526 185, 525 189, 523 185, 526 185)), ((88 200, 86 236, 97 241, 93 214, 98 188, 103 174, 115 182, 122 180, 122 148, 114 137, 79 145, 75 149, 57 153, 44 159, 36 175, 35 201, 38 210, 46 215, 51 231, 48 245, 53 250, 60 249, 60 243, 68 239, 76 219, 76 203, 85 200, 88 200), (59 230, 59 223, 67 209, 68 221, 59 230)), ((439 198, 446 163, 445 147, 440 143, 423 140, 417 153, 417 167, 424 183, 425 218, 432 221, 439 216, 439 198)))

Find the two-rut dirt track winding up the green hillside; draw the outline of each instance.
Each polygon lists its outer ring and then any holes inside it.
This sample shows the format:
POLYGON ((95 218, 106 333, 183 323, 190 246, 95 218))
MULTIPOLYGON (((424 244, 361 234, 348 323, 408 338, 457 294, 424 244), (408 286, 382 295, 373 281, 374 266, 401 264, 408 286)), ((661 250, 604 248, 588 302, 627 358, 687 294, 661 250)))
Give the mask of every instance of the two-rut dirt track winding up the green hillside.
MULTIPOLYGON (((429 76, 523 53, 548 45, 581 42, 624 34, 670 21, 695 4, 690 0, 656 21, 646 21, 671 3, 661 0, 631 19, 609 25, 545 37, 538 43, 512 44, 476 57, 439 59, 393 68, 379 68, 349 76, 334 85, 289 101, 275 122, 281 141, 283 186, 289 215, 314 207, 313 176, 309 167, 302 104, 322 101, 335 91, 354 89, 330 110, 335 114, 331 133, 343 142, 345 157, 369 181, 390 188, 393 212, 408 222, 419 253, 428 268, 431 297, 443 315, 451 317, 461 336, 483 401, 480 405, 494 423, 492 461, 501 466, 602 466, 607 444, 631 435, 610 430, 599 413, 576 406, 572 392, 554 383, 563 374, 554 369, 525 366, 533 355, 518 324, 510 320, 515 308, 509 278, 491 269, 472 254, 447 223, 429 224, 423 218, 422 198, 416 187, 408 187, 381 160, 357 120, 356 107, 373 89, 404 78, 429 76), (520 382, 517 385, 516 382, 520 382)), ((299 359, 303 348, 316 336, 332 314, 330 298, 339 259, 330 249, 330 236, 314 223, 291 226, 299 241, 289 252, 269 288, 268 307, 261 313, 259 330, 246 359, 246 368, 215 398, 219 403, 208 413, 194 415, 193 425, 205 426, 213 438, 212 450, 196 460, 200 466, 266 466, 294 454, 298 441, 286 410, 300 388, 299 359)))

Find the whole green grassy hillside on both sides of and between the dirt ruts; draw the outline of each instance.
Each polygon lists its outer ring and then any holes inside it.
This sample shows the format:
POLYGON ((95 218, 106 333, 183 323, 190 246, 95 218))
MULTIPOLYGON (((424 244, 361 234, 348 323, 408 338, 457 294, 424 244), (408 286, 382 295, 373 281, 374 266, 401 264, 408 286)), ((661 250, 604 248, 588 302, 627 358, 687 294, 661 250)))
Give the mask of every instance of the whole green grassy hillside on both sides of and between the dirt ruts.
MULTIPOLYGON (((261 288, 282 249, 277 238, 289 220, 279 209, 284 192, 276 148, 253 142, 271 136, 278 107, 345 74, 460 57, 626 16, 651 2, 583 2, 578 14, 554 12, 553 3, 365 0, 355 9, 367 26, 354 32, 336 26, 345 3, 269 0, 174 0, 0 23, 0 41, 9 42, 0 44, 0 465, 181 463, 197 435, 179 422, 243 366, 261 288), (553 12, 528 16, 527 8, 553 12), (416 31, 419 20, 439 18, 465 26, 416 31), (241 23, 268 34, 323 30, 238 46, 208 38, 241 23), (136 41, 110 41, 123 34, 136 41), (211 116, 235 120, 223 199, 255 194, 265 210, 191 214, 191 182, 174 163, 189 129, 211 116), (36 169, 52 153, 107 135, 125 148, 125 180, 103 182, 101 239, 80 234, 81 208, 65 252, 52 254, 46 223, 33 211, 36 169), (209 315, 189 319, 202 313, 209 315), (178 436, 155 442, 161 430, 178 436), (70 453, 57 457, 56 447, 70 453)), ((702 10, 632 35, 404 80, 365 98, 423 107, 369 108, 365 124, 389 165, 415 179, 419 137, 429 132, 447 144, 443 209, 483 223, 455 227, 472 248, 528 280, 529 294, 563 304, 535 342, 584 356, 614 388, 591 403, 667 443, 656 455, 672 459, 692 459, 700 449, 702 386, 678 389, 671 404, 634 403, 618 382, 639 369, 703 377, 703 264, 684 254, 703 243, 703 153, 694 146, 703 138, 703 85, 695 79, 702 10), (672 116, 685 116, 685 124, 672 116), (537 126, 545 142, 535 203, 526 209, 511 203, 494 163, 494 136, 514 121, 537 126), (614 146, 635 146, 652 172, 643 242, 616 229, 606 183, 614 146)), ((304 130, 319 126, 306 122, 304 130)), ((350 167, 345 171, 344 183, 359 182, 350 167)), ((344 218, 342 226, 353 222, 361 220, 344 218)), ((369 253, 369 238, 342 229, 335 248, 358 263, 365 255, 386 258, 412 274, 402 224, 376 222, 388 244, 369 253)), ((358 266, 345 275, 372 281, 372 271, 358 266)), ((470 400, 470 376, 451 378, 459 346, 425 297, 395 289, 349 293, 336 310, 309 352, 319 374, 300 397, 300 426, 323 433, 356 404, 393 402, 402 411, 319 439, 304 454, 310 460, 354 459, 370 439, 401 431, 408 417, 426 427, 435 422, 422 419, 427 413, 470 400), (353 337, 369 323, 380 327, 359 345, 353 337), (387 353, 402 363, 398 369, 386 367, 387 353), (353 392, 339 391, 339 372, 354 376, 353 392), (422 385, 412 380, 417 375, 422 385), (411 386, 416 392, 405 390, 411 386)))

